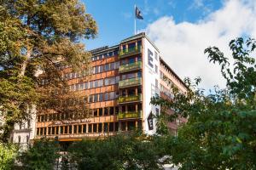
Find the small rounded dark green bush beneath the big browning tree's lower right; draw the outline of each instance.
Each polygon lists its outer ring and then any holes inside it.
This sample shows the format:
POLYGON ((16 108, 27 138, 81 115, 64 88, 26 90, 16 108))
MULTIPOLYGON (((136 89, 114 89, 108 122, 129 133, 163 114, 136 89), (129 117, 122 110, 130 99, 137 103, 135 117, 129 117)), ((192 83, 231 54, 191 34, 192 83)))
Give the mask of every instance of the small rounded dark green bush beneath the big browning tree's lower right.
POLYGON ((40 139, 21 153, 20 162, 23 169, 54 169, 59 155, 59 145, 55 141, 40 139))

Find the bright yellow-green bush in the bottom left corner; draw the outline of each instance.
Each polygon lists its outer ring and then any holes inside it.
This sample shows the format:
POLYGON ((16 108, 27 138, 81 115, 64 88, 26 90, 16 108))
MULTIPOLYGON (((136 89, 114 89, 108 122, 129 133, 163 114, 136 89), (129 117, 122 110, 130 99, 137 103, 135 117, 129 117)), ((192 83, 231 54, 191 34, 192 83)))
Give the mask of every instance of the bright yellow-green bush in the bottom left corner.
POLYGON ((0 144, 0 170, 11 170, 18 148, 14 144, 0 144))

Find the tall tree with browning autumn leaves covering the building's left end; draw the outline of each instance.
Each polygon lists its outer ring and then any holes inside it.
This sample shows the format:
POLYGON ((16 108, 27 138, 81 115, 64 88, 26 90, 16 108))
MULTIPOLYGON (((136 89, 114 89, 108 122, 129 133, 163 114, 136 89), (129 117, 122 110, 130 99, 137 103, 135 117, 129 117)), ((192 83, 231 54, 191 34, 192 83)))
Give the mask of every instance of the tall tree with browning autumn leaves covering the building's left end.
POLYGON ((15 122, 29 118, 27 110, 31 105, 37 105, 38 110, 86 114, 81 102, 67 107, 67 101, 81 99, 65 91, 67 81, 61 78, 65 72, 60 67, 69 65, 68 71, 88 72, 90 53, 84 51, 79 41, 95 37, 96 32, 96 21, 85 13, 79 0, 0 1, 0 110, 6 120, 1 136, 4 142, 15 122))

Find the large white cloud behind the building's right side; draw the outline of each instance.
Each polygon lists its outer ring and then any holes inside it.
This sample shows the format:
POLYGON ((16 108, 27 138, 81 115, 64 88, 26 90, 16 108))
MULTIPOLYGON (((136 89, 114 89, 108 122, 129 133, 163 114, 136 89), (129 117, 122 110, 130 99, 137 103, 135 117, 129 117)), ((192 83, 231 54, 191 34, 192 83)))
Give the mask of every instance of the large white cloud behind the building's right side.
POLYGON ((172 16, 164 16, 149 24, 146 32, 177 75, 201 77, 203 88, 216 84, 224 88, 219 66, 208 62, 204 49, 217 46, 230 55, 231 39, 244 35, 256 37, 256 1, 225 1, 222 8, 197 23, 177 24, 172 16))

